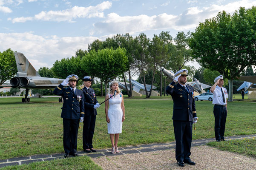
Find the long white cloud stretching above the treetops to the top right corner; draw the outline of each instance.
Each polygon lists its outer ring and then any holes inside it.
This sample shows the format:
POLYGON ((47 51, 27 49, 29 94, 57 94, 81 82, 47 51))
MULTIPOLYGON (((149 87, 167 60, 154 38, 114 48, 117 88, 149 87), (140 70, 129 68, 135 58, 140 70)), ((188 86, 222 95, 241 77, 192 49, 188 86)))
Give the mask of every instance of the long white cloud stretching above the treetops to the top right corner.
POLYGON ((239 7, 251 8, 256 6, 254 0, 240 0, 226 5, 210 5, 209 7, 191 7, 182 11, 179 15, 159 14, 159 15, 138 15, 138 16, 120 16, 115 13, 107 15, 104 21, 94 24, 92 34, 96 32, 115 33, 138 33, 141 31, 150 31, 158 29, 174 29, 177 31, 188 31, 196 28, 200 22, 207 18, 215 17, 219 11, 225 10, 233 13, 239 7))

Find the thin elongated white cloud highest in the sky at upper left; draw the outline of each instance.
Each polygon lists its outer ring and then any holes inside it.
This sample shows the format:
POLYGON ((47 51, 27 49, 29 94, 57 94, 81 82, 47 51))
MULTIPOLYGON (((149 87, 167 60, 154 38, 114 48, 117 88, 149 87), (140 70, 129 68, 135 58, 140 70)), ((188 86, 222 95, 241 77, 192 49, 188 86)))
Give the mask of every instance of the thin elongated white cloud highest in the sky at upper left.
POLYGON ((69 21, 72 22, 75 18, 91 18, 91 17, 104 17, 103 11, 109 9, 112 3, 105 1, 97 6, 79 7, 66 9, 63 11, 41 11, 35 14, 34 17, 17 17, 12 20, 12 23, 24 23, 28 20, 43 20, 43 21, 69 21))

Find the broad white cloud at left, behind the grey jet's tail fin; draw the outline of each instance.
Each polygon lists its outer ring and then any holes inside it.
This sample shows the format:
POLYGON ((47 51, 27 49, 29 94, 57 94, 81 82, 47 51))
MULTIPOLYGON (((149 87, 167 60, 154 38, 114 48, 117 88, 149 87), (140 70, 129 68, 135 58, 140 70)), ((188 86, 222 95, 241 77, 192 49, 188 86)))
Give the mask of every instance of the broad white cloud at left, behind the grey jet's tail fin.
POLYGON ((52 67, 56 60, 75 56, 77 49, 87 50, 97 37, 43 37, 32 33, 0 33, 0 51, 12 48, 22 52, 38 70, 52 67))

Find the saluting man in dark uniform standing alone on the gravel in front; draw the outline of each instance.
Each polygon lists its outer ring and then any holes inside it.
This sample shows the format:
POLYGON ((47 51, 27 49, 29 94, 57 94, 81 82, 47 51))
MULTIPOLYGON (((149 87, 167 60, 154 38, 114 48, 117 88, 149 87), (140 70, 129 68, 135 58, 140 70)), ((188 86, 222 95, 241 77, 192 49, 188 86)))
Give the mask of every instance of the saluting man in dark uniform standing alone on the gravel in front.
POLYGON ((184 163, 195 165, 190 159, 193 123, 197 122, 194 89, 187 82, 186 69, 175 73, 175 79, 167 86, 166 91, 173 98, 173 127, 176 141, 175 156, 178 165, 184 163), (175 85, 175 82, 178 83, 175 85))

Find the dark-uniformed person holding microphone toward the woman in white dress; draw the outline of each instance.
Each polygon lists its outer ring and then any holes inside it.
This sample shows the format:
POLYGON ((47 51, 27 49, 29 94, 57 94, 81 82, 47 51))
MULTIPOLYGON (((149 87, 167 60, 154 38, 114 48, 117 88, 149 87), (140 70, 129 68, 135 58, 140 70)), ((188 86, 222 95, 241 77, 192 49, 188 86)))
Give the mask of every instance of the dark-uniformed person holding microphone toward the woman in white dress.
POLYGON ((84 95, 84 122, 83 122, 83 151, 87 153, 96 152, 92 146, 92 138, 96 121, 97 110, 100 104, 96 98, 95 91, 90 88, 92 78, 83 77, 84 88, 81 89, 84 95))

